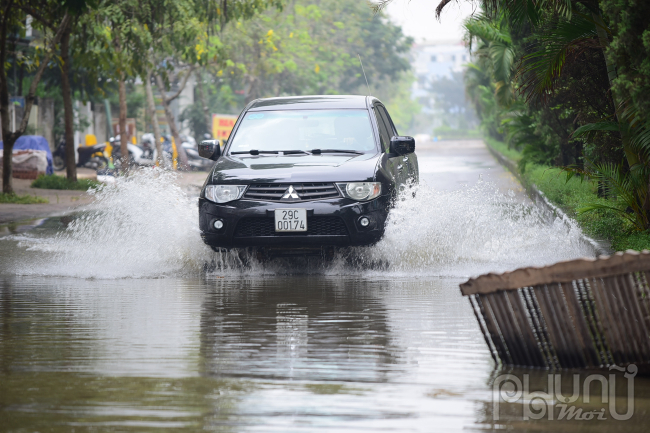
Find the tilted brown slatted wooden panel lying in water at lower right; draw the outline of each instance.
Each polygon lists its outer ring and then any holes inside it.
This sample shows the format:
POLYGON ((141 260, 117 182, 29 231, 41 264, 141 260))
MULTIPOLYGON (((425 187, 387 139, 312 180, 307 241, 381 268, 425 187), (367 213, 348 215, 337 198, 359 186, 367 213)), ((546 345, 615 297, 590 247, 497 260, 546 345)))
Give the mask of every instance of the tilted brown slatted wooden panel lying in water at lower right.
POLYGON ((460 288, 497 363, 650 367, 649 281, 650 252, 628 251, 487 274, 460 288))

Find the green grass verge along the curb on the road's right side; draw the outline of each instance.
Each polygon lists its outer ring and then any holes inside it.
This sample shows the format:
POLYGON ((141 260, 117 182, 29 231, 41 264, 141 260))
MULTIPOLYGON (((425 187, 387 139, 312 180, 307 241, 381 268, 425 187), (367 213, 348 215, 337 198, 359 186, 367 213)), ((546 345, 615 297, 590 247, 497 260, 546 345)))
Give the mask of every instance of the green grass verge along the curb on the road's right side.
MULTIPOLYGON (((485 142, 493 150, 514 162, 519 162, 521 159, 520 152, 510 149, 501 141, 485 138, 485 142)), ((610 241, 612 249, 616 251, 650 249, 650 232, 634 230, 632 224, 617 212, 611 210, 597 210, 583 214, 578 212, 578 209, 587 203, 619 206, 616 200, 598 197, 593 182, 589 180, 582 182, 575 177, 567 182, 566 174, 561 169, 535 164, 527 164, 525 172, 518 174, 524 186, 537 186, 554 205, 575 219, 587 236, 610 241)))

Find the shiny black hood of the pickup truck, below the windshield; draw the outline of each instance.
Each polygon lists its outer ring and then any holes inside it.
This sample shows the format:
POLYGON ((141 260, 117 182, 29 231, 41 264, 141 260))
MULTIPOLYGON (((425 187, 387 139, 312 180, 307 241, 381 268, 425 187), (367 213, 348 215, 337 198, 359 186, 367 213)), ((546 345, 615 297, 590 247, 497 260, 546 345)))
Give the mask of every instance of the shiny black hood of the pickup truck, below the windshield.
POLYGON ((372 181, 380 157, 381 153, 222 156, 214 165, 210 183, 372 181))

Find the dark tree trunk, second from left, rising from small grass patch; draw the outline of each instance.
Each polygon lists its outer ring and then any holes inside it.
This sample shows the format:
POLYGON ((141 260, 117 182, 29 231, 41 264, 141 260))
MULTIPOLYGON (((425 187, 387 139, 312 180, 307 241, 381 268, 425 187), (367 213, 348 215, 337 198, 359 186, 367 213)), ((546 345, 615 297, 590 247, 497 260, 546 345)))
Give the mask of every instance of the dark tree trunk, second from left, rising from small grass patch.
POLYGON ((65 127, 65 170, 68 180, 77 181, 77 161, 74 149, 74 112, 70 88, 70 26, 61 36, 61 92, 63 96, 63 124, 65 127))

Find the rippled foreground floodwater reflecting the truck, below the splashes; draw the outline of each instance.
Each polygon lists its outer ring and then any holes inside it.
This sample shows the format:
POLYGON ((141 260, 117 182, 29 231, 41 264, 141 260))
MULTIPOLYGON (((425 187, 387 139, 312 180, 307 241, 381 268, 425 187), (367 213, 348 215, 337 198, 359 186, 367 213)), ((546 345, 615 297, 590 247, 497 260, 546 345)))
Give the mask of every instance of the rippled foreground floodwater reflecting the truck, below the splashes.
POLYGON ((457 430, 491 366, 455 283, 5 280, 3 428, 457 430))

